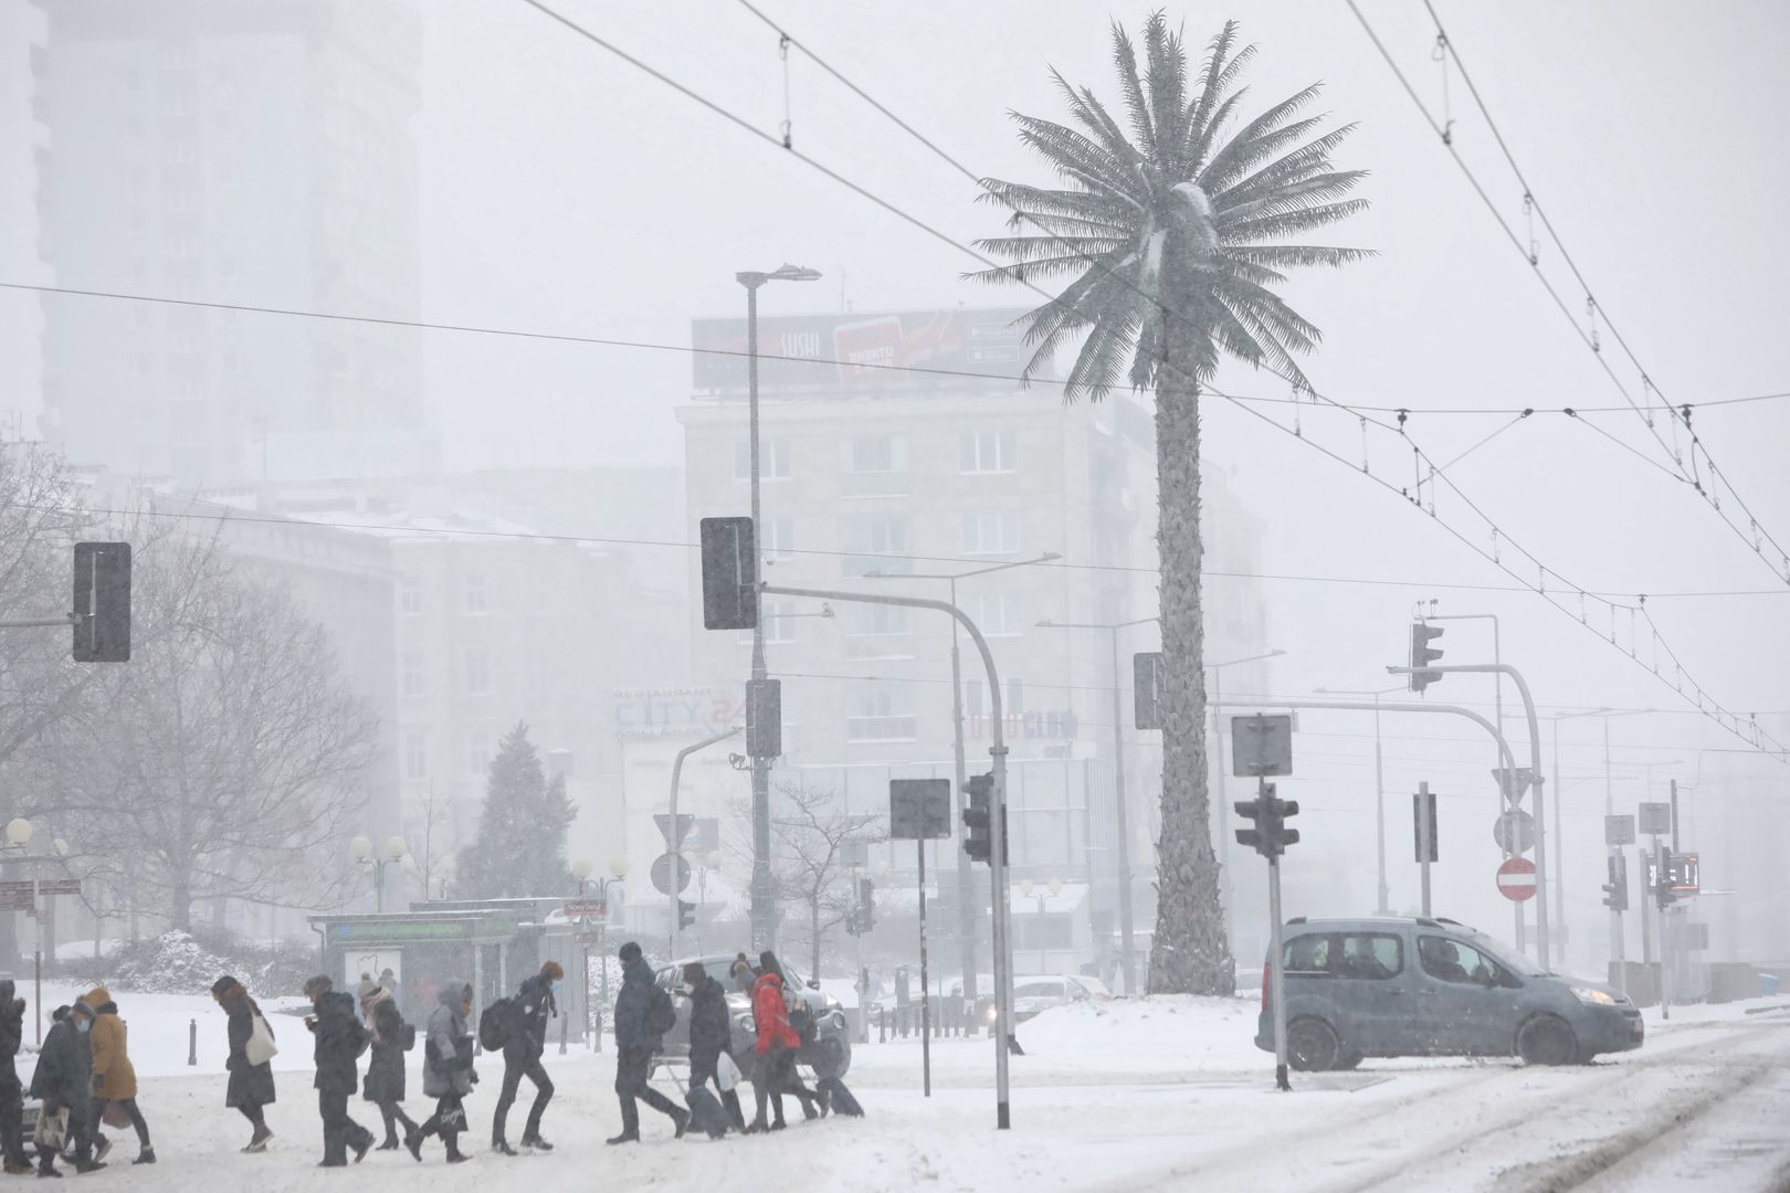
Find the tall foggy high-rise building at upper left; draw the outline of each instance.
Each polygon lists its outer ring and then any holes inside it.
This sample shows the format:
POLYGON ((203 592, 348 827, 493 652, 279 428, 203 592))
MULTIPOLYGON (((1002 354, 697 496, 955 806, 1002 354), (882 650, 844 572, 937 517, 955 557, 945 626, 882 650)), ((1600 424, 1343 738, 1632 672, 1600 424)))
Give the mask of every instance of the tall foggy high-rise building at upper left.
MULTIPOLYGON (((413 315, 421 25, 392 0, 39 4, 41 256, 61 286, 413 315)), ((430 463, 415 333, 45 300, 45 435, 183 487, 430 463)))

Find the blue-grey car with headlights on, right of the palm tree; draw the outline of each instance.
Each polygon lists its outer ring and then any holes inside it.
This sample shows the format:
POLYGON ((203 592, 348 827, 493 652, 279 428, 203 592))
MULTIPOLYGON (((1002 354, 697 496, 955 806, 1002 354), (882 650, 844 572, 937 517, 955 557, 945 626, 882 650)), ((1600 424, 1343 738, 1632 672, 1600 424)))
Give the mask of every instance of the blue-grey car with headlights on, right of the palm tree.
MULTIPOLYGON (((1584 1064, 1643 1039, 1641 1012, 1620 991, 1547 973, 1453 919, 1291 919, 1282 964, 1296 1070, 1403 1055, 1584 1064)), ((1264 966, 1255 1043, 1267 1052, 1271 996, 1264 966)))

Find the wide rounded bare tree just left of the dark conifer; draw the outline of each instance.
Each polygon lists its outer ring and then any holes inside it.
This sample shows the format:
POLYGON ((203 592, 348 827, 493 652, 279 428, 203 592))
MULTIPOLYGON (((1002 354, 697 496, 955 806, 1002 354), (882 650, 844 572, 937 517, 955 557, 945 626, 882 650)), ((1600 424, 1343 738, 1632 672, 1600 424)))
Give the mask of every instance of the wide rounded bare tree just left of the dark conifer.
POLYGON ((337 901, 376 719, 328 631, 193 540, 138 563, 132 612, 150 642, 98 673, 97 712, 55 733, 57 819, 134 855, 132 885, 179 928, 195 900, 337 901))

